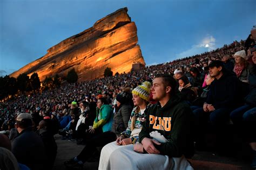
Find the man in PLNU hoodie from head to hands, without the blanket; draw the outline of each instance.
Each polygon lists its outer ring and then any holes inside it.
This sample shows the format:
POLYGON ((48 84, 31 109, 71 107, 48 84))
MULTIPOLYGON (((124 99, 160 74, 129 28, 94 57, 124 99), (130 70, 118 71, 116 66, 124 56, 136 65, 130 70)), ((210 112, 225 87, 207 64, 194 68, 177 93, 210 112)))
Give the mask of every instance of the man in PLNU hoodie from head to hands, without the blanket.
POLYGON ((168 74, 158 74, 154 78, 151 92, 158 103, 147 112, 139 134, 140 143, 134 145, 134 151, 170 157, 192 157, 194 154, 193 114, 190 106, 176 96, 176 86, 176 81, 168 74), (153 131, 160 133, 160 138, 164 137, 166 142, 152 139, 150 133, 153 131))

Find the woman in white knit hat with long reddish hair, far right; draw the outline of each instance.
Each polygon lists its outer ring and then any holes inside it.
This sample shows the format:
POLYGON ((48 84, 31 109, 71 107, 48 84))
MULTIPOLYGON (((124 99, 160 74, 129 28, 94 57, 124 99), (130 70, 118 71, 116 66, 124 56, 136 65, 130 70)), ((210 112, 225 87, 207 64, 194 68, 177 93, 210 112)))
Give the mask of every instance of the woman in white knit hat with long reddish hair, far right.
POLYGON ((235 66, 234 72, 237 74, 239 80, 248 83, 248 76, 252 70, 252 65, 247 62, 245 50, 238 51, 234 54, 235 66))

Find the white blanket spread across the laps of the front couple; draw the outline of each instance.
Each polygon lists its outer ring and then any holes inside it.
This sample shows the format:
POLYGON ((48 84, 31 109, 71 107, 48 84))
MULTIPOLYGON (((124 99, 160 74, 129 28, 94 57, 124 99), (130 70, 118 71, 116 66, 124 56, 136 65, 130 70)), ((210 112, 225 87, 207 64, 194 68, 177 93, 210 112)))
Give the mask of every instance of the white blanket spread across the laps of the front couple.
POLYGON ((118 146, 116 141, 103 147, 99 169, 186 169, 192 166, 184 156, 169 158, 167 155, 141 154, 133 151, 133 145, 118 146))

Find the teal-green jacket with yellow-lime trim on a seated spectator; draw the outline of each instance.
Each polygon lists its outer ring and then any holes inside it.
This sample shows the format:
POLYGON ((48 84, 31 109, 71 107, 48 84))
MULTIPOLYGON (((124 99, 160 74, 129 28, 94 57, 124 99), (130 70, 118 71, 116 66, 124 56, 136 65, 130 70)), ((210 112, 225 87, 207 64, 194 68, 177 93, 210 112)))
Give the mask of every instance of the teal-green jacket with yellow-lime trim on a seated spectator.
POLYGON ((103 132, 111 131, 113 122, 113 110, 110 105, 102 105, 99 110, 96 111, 96 118, 93 122, 93 128, 102 127, 103 132), (99 119, 98 119, 99 115, 99 119))

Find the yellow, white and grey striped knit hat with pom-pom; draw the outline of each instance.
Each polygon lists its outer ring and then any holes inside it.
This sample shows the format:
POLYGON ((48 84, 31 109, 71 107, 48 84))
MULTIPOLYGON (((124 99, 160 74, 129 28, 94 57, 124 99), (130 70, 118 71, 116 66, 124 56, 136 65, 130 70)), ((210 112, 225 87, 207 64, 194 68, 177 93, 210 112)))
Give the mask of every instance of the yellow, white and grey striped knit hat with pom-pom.
POLYGON ((132 90, 132 94, 138 95, 140 98, 149 101, 151 84, 149 81, 145 81, 142 85, 137 86, 132 90))

